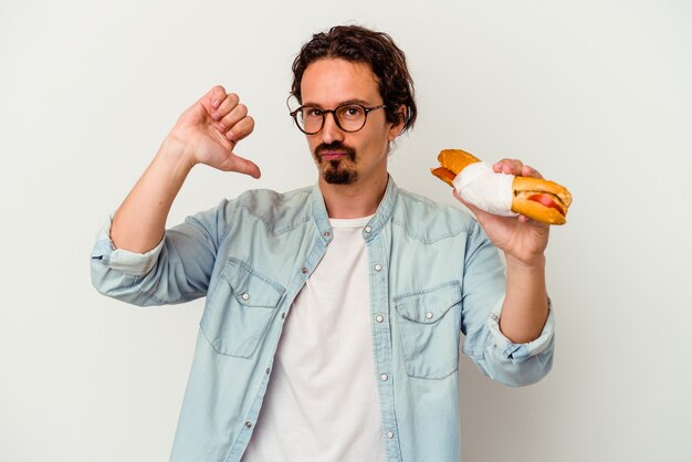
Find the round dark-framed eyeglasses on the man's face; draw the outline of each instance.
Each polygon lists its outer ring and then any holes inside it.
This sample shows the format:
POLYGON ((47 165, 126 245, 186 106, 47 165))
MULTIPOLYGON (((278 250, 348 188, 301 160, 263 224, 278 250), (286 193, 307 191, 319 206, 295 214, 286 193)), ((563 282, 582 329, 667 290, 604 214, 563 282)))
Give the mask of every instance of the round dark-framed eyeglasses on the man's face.
POLYGON ((334 116, 336 126, 347 133, 358 132, 365 127, 370 111, 382 109, 385 104, 374 107, 365 107, 361 104, 342 104, 334 109, 322 109, 315 106, 301 106, 291 113, 301 132, 305 135, 315 135, 324 126, 324 119, 328 113, 334 116))

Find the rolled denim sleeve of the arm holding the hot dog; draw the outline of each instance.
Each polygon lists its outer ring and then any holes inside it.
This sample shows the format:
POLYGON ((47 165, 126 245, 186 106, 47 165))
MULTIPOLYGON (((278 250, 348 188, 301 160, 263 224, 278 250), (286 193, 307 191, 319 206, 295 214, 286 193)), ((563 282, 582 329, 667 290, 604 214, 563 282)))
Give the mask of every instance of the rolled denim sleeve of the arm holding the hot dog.
POLYGON ((500 330, 505 294, 505 270, 497 249, 480 225, 469 237, 463 280, 463 353, 493 380, 525 386, 545 377, 553 366, 555 316, 548 317, 538 338, 512 343, 500 330))

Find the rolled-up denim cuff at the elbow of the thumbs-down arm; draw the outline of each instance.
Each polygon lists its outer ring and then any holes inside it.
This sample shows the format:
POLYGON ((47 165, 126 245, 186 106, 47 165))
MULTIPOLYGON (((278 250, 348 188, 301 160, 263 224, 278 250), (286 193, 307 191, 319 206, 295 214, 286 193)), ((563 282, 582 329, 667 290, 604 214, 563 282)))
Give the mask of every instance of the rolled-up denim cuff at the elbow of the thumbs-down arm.
POLYGON ((96 243, 92 251, 92 260, 101 260, 106 266, 129 274, 141 276, 147 274, 158 260, 164 248, 164 239, 148 252, 137 253, 125 249, 117 249, 111 240, 111 224, 113 217, 108 217, 96 237, 96 243))

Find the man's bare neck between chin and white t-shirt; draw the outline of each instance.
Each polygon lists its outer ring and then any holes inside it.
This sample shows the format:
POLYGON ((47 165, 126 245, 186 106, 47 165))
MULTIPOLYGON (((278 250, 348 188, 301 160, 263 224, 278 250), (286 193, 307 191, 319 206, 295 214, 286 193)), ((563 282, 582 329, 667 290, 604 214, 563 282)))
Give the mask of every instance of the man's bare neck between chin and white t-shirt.
POLYGON ((319 178, 319 190, 329 218, 360 218, 374 214, 387 190, 388 175, 368 185, 329 185, 319 178))

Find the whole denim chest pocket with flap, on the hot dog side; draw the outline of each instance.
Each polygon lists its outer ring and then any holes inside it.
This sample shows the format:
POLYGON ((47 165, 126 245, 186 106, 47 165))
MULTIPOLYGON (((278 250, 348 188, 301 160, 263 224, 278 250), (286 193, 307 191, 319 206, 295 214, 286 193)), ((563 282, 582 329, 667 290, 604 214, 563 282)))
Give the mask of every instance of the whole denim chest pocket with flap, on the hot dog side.
POLYGON ((461 287, 457 281, 395 298, 410 377, 440 379, 459 368, 461 287))

